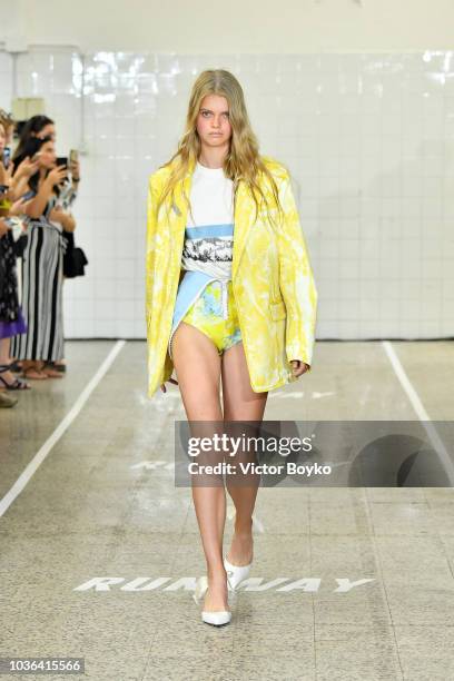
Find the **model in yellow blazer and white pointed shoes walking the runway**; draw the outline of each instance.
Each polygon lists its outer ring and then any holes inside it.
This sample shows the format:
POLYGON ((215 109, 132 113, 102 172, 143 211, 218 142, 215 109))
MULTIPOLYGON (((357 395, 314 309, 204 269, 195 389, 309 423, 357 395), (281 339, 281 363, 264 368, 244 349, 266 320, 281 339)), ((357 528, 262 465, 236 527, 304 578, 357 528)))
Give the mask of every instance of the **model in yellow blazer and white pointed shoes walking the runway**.
MULTIPOLYGON (((268 391, 310 368, 316 305, 288 170, 259 154, 238 80, 206 70, 176 154, 149 179, 149 397, 170 382, 188 422, 261 422, 268 391)), ((193 485, 207 563, 195 596, 215 625, 230 621, 228 592, 253 562, 258 483, 226 484, 236 516, 224 559, 225 487, 193 485)))

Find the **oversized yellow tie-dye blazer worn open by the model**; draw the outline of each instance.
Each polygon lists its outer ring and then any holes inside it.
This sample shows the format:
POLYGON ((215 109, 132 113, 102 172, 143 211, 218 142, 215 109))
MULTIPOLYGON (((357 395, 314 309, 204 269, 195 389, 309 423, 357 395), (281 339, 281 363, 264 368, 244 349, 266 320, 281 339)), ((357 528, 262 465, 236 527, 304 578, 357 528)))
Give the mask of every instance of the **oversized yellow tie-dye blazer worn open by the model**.
MULTIPOLYGON (((317 290, 305 238, 284 165, 261 157, 277 182, 285 219, 277 230, 259 210, 247 186, 239 182, 234 219, 231 279, 250 385, 256 393, 296 381, 292 359, 312 364, 317 290)), ((174 306, 181 275, 187 207, 182 190, 189 196, 195 164, 157 214, 157 199, 169 176, 159 168, 149 178, 146 320, 148 357, 148 396, 170 378, 174 363, 168 354, 174 306), (169 217, 167 206, 170 208, 169 217)), ((268 181, 259 179, 273 217, 277 207, 268 181)))

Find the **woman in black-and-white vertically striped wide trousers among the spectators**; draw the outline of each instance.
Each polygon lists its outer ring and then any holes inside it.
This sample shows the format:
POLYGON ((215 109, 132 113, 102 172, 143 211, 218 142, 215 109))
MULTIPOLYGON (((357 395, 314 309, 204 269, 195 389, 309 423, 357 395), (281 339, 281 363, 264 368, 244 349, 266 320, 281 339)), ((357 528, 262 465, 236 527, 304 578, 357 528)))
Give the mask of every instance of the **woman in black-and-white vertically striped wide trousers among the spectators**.
POLYGON ((56 213, 55 205, 67 168, 57 166, 50 137, 31 137, 21 156, 14 156, 16 162, 27 157, 38 161, 38 171, 27 186, 31 197, 23 208, 28 240, 22 265, 22 309, 28 328, 13 337, 11 354, 22 362, 24 377, 45 379, 62 376, 46 363, 63 357, 61 234, 68 217, 56 213))

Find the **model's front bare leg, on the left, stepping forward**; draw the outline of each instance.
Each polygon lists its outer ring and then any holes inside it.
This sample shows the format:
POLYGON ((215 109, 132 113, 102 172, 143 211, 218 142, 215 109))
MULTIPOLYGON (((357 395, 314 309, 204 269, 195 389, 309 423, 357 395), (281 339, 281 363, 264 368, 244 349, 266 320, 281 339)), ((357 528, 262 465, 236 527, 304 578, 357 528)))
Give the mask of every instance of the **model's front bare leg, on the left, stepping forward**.
MULTIPOLYGON (((220 357, 198 328, 181 322, 172 338, 172 358, 188 421, 223 422, 220 357)), ((227 574, 223 561, 226 492, 221 486, 193 485, 193 500, 207 562, 204 610, 226 610, 227 574)))

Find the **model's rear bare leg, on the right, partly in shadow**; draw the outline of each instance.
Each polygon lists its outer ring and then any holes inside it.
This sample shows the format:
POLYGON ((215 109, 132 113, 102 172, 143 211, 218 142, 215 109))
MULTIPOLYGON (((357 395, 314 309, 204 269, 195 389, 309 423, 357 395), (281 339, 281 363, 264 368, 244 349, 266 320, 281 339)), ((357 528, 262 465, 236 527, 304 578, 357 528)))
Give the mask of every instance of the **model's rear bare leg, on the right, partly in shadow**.
MULTIPOLYGON (((223 355, 224 421, 257 421, 264 416, 268 393, 255 393, 243 342, 223 355)), ((234 565, 247 565, 253 560, 253 512, 259 478, 250 476, 250 486, 239 486, 237 476, 226 475, 227 490, 235 504, 235 532, 226 555, 234 565)))

